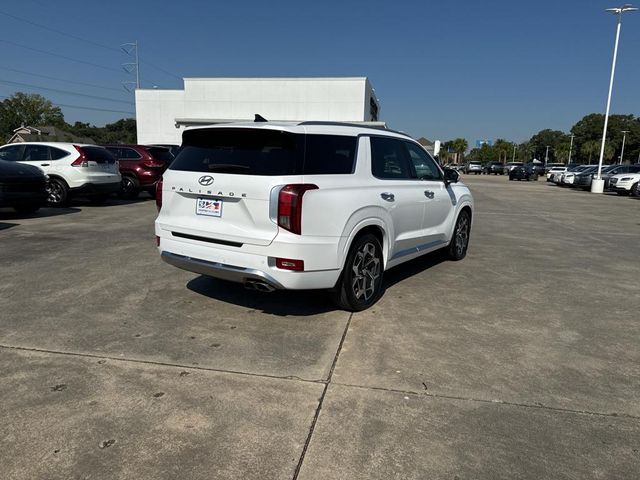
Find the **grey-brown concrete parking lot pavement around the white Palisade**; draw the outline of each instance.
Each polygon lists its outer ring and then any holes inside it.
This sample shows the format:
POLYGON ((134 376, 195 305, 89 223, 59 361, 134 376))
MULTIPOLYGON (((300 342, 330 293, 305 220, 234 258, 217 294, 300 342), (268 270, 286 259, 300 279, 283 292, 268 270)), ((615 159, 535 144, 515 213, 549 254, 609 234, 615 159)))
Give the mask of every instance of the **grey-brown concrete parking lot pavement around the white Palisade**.
POLYGON ((470 177, 369 311, 161 263, 151 200, 0 210, 0 478, 640 477, 640 201, 470 177))

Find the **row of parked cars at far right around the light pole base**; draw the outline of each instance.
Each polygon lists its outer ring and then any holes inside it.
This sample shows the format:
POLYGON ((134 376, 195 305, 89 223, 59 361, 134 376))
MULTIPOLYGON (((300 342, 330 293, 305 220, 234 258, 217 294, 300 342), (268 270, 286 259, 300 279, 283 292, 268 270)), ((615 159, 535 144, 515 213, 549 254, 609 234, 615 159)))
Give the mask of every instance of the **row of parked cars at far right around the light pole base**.
MULTIPOLYGON (((597 165, 570 164, 556 166, 547 173, 547 182, 562 187, 591 189, 591 182, 598 174, 597 165)), ((605 190, 618 195, 640 197, 640 164, 603 165, 600 173, 605 190)))

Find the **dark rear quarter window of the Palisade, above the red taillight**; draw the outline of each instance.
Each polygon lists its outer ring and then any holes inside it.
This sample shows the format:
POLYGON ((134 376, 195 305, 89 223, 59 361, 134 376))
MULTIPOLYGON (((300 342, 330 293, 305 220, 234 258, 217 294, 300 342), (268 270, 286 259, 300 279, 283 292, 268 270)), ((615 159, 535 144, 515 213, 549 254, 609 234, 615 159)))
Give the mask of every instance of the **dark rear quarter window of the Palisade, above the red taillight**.
POLYGON ((307 135, 303 172, 305 175, 353 173, 356 137, 307 135))

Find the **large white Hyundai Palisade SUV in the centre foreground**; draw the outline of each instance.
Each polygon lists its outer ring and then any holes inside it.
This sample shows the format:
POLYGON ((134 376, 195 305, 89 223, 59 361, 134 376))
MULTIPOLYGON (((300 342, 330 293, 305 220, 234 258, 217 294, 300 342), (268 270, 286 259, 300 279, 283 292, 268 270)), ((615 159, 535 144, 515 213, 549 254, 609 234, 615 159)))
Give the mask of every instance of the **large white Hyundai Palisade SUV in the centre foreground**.
POLYGON ((158 185, 156 240, 176 267, 262 291, 330 289, 363 310, 383 271, 467 252, 473 198, 410 137, 328 122, 187 129, 158 185))

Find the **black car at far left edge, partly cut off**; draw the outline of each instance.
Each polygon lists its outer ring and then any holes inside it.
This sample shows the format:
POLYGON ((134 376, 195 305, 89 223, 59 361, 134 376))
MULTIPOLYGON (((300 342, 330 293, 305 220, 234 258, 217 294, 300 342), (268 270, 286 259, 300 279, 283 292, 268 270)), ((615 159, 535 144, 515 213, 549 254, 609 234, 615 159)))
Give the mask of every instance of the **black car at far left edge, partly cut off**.
POLYGON ((38 167, 0 160, 0 207, 34 213, 47 201, 46 185, 38 167))

